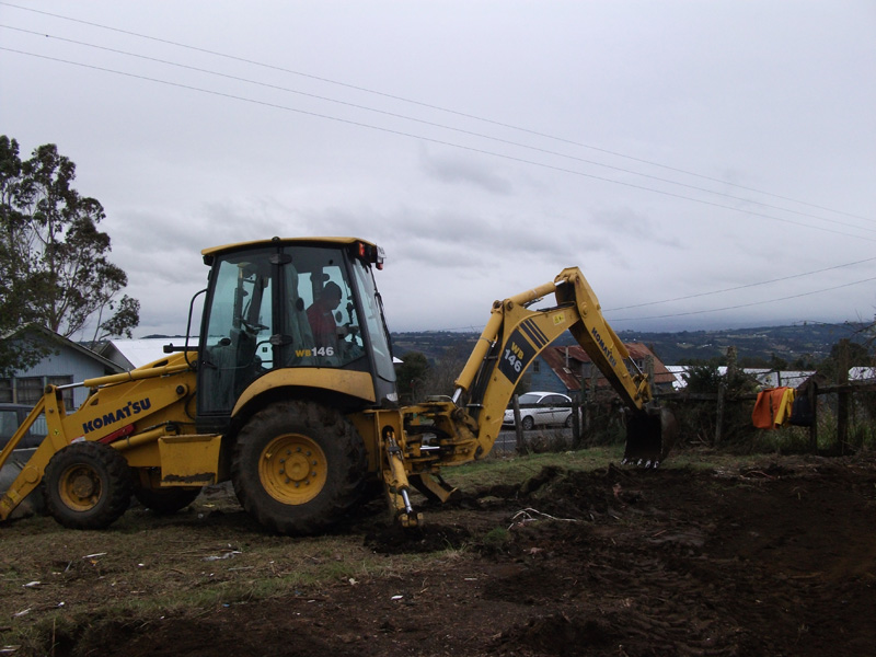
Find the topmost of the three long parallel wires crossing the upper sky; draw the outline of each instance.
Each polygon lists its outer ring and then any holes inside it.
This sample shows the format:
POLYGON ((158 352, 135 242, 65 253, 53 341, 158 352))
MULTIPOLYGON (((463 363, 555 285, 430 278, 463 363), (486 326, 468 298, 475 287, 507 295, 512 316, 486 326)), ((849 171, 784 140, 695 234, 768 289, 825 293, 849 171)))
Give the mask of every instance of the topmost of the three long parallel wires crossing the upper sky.
MULTIPOLYGON (((135 36, 137 38, 142 38, 142 39, 152 41, 152 42, 157 42, 157 43, 161 43, 161 44, 166 44, 166 45, 171 45, 171 46, 174 46, 174 47, 184 48, 184 49, 187 49, 187 50, 193 50, 193 51, 196 51, 196 53, 203 53, 203 54, 211 55, 211 56, 215 56, 215 57, 222 57, 224 59, 230 59, 230 60, 239 61, 239 62, 242 62, 242 64, 247 64, 247 65, 252 65, 252 66, 256 66, 256 67, 261 67, 261 68, 266 68, 266 69, 270 69, 270 70, 275 70, 275 71, 280 71, 280 72, 285 72, 285 73, 290 73, 290 74, 293 74, 293 76, 300 76, 302 78, 316 80, 319 82, 324 82, 324 83, 327 83, 327 84, 334 84, 334 85, 337 85, 337 87, 344 87, 346 89, 351 89, 351 90, 355 90, 355 91, 359 91, 359 92, 364 92, 364 93, 369 93, 369 94, 382 96, 382 97, 390 99, 390 100, 393 100, 393 101, 400 101, 400 102, 403 102, 403 103, 408 103, 408 104, 412 104, 412 105, 417 105, 417 106, 420 106, 420 107, 426 107, 426 108, 429 108, 429 110, 435 110, 435 111, 438 111, 438 112, 443 112, 443 113, 447 113, 447 114, 452 114, 452 115, 456 115, 456 116, 461 116, 461 117, 464 117, 464 118, 474 119, 474 120, 477 120, 477 122, 495 125, 495 126, 498 126, 498 127, 509 128, 509 129, 512 129, 512 130, 518 130, 518 131, 526 132, 526 134, 529 134, 529 135, 533 135, 533 136, 537 136, 537 137, 542 137, 542 138, 545 138, 545 139, 551 139, 551 140, 554 140, 554 141, 563 142, 563 143, 577 146, 577 147, 589 149, 589 150, 593 150, 593 151, 597 151, 597 152, 601 152, 601 153, 614 155, 614 157, 618 157, 618 158, 623 158, 623 159, 626 159, 626 160, 631 160, 631 161, 634 161, 634 162, 639 162, 639 163, 643 163, 643 164, 647 164, 649 166, 657 166, 657 168, 660 168, 660 169, 665 169, 667 171, 673 171, 676 173, 682 173, 684 175, 699 177, 701 180, 706 180, 706 181, 714 182, 714 183, 721 183, 723 185, 728 185, 728 186, 736 187, 736 188, 739 188, 739 189, 746 189, 748 192, 754 192, 757 194, 762 194, 764 196, 779 198, 781 200, 796 203, 796 204, 799 204, 799 205, 803 205, 803 206, 808 206, 808 207, 816 208, 816 209, 819 209, 819 210, 826 210, 826 211, 834 212, 834 214, 838 214, 838 215, 844 215, 846 217, 852 217, 852 218, 855 218, 855 219, 863 219, 865 221, 876 221, 876 219, 872 219, 869 217, 863 217, 863 216, 854 215, 854 214, 851 214, 851 212, 844 212, 842 210, 834 210, 834 209, 831 209, 831 208, 828 208, 828 207, 825 207, 825 206, 819 206, 819 205, 816 205, 816 204, 811 204, 811 203, 808 203, 808 201, 794 199, 794 198, 786 197, 786 196, 781 196, 779 194, 764 192, 762 189, 757 189, 754 187, 748 187, 748 186, 740 185, 740 184, 737 184, 737 183, 730 183, 730 182, 725 181, 725 180, 711 177, 711 176, 699 174, 699 173, 694 173, 694 172, 691 172, 691 171, 685 171, 683 169, 669 166, 669 165, 666 165, 666 164, 661 164, 659 162, 654 162, 654 161, 645 160, 645 159, 642 159, 642 158, 635 158, 635 157, 632 157, 632 155, 626 155, 624 153, 620 153, 620 152, 616 152, 616 151, 612 151, 612 150, 608 150, 608 149, 590 146, 590 145, 587 145, 587 143, 581 143, 581 142, 574 141, 574 140, 570 140, 570 139, 565 139, 565 138, 562 138, 562 137, 556 137, 556 136, 553 136, 553 135, 549 135, 546 132, 540 132, 538 130, 522 128, 522 127, 519 127, 519 126, 502 123, 502 122, 489 119, 489 118, 484 118, 484 117, 476 116, 476 115, 473 115, 473 114, 468 114, 468 113, 464 113, 464 112, 459 112, 459 111, 456 111, 456 110, 441 107, 439 105, 434 105, 434 104, 430 104, 430 103, 415 101, 415 100, 406 99, 406 97, 403 97, 403 96, 393 95, 393 94, 381 92, 381 91, 376 91, 376 90, 368 89, 368 88, 365 88, 365 87, 350 84, 350 83, 347 83, 347 82, 341 82, 341 81, 337 81, 337 80, 332 80, 330 78, 323 78, 323 77, 320 77, 320 76, 314 76, 314 74, 311 74, 311 73, 297 71, 297 70, 293 70, 293 69, 288 69, 288 68, 284 68, 284 67, 279 67, 279 66, 274 66, 274 65, 256 61, 256 60, 253 60, 253 59, 246 59, 244 57, 238 57, 238 56, 234 56, 234 55, 229 55, 229 54, 220 53, 220 51, 217 51, 217 50, 210 50, 210 49, 207 49, 207 48, 200 48, 200 47, 197 47, 197 46, 192 46, 192 45, 183 44, 183 43, 180 43, 180 42, 159 38, 159 37, 146 35, 146 34, 140 34, 140 33, 137 33, 137 32, 128 31, 128 30, 122 30, 122 28, 118 28, 118 27, 110 26, 110 25, 103 25, 101 23, 95 23, 95 22, 92 22, 92 21, 84 21, 84 20, 81 20, 81 19, 74 19, 72 16, 67 16, 67 15, 62 15, 62 14, 58 14, 58 13, 41 11, 41 10, 36 10, 36 9, 33 9, 33 8, 30 8, 30 7, 22 7, 20 4, 14 4, 12 2, 0 1, 0 4, 5 5, 5 7, 11 7, 11 8, 14 8, 14 9, 19 9, 19 10, 22 10, 22 11, 28 11, 28 12, 33 12, 33 13, 37 13, 37 14, 42 14, 42 15, 51 16, 51 18, 55 18, 55 19, 61 19, 61 20, 65 20, 65 21, 73 22, 73 23, 80 23, 80 24, 83 24, 83 25, 89 25, 91 27, 97 27, 100 30, 106 30, 106 31, 111 31, 111 32, 116 32, 116 33, 119 33, 119 34, 125 34, 127 36, 135 36)), ((600 164, 600 165, 608 166, 606 164, 600 164)), ((637 175, 645 175, 645 174, 637 174, 637 175)), ((673 183, 673 184, 681 185, 682 183, 673 183)), ((719 194, 717 192, 713 192, 713 193, 714 194, 719 194)), ((752 203, 758 203, 758 201, 752 201, 752 203)), ((766 205, 766 204, 761 204, 761 205, 766 205)), ((768 206, 768 207, 772 207, 772 206, 768 206)), ((793 210, 786 210, 786 211, 793 211, 793 210)))

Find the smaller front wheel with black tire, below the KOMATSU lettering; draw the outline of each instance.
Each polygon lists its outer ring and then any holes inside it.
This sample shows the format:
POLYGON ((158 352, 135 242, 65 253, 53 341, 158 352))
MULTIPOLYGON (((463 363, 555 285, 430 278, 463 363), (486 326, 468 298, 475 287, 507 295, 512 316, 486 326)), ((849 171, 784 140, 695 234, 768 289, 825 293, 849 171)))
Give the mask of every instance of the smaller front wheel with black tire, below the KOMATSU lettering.
POLYGON ((48 462, 43 496, 49 515, 69 529, 104 529, 127 510, 128 462, 100 442, 68 445, 48 462))

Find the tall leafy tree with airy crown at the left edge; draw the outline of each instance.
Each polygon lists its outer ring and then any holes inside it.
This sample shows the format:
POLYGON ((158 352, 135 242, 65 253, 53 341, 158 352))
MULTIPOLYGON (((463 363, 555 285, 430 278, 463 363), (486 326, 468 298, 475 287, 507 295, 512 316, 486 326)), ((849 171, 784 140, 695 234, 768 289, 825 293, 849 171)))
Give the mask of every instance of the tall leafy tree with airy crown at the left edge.
POLYGON ((73 186, 76 164, 46 143, 27 160, 15 139, 0 136, 0 370, 41 356, 8 339, 36 323, 65 337, 91 341, 127 335, 139 323, 139 301, 122 295, 125 272, 110 261, 106 215, 73 186), (120 298, 119 298, 120 296, 120 298))

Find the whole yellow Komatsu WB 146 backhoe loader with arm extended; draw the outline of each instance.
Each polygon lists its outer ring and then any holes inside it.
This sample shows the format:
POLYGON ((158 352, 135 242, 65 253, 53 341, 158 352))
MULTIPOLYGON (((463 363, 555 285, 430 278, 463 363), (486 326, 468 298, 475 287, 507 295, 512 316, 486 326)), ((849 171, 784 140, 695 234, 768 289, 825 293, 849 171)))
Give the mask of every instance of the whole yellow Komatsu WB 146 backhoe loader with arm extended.
MULTIPOLYGON (((49 385, 0 452, 7 462, 45 416, 48 435, 0 498, 0 520, 43 487, 62 526, 110 526, 134 495, 157 512, 231 480, 244 509, 283 534, 325 530, 382 485, 405 527, 413 488, 447 500, 441 468, 486 456, 527 367, 569 330, 630 408, 625 459, 656 465, 671 424, 645 374, 631 373, 577 268, 496 301, 452 401, 399 406, 373 269, 383 252, 353 238, 207 249, 197 345, 130 372, 85 380, 76 411, 49 385), (550 308, 532 310, 554 295, 550 308)), ((192 323, 189 309, 189 326, 192 323)))

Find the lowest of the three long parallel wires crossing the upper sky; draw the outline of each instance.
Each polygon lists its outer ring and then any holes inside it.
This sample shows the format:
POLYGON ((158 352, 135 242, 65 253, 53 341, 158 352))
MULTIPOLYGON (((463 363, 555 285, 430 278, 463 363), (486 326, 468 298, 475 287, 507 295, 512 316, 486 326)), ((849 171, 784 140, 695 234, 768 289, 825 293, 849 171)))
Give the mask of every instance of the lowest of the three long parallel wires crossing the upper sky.
MULTIPOLYGON (((0 2, 0 4, 2 4, 2 2, 0 2)), ((529 159, 526 159, 526 158, 519 158, 519 157, 515 157, 515 155, 509 155, 509 154, 505 154, 505 153, 489 151, 489 150, 486 150, 486 149, 475 148, 475 147, 471 147, 471 146, 464 146, 464 145, 461 145, 461 143, 454 143, 452 141, 447 141, 447 140, 443 140, 443 139, 436 139, 436 138, 433 138, 433 137, 424 137, 423 135, 415 135, 413 132, 406 132, 404 130, 395 130, 395 129, 392 129, 392 128, 374 126, 374 125, 362 123, 362 122, 358 122, 358 120, 351 120, 351 119, 347 119, 347 118, 341 118, 341 117, 337 117, 337 116, 331 116, 331 115, 327 115, 327 114, 321 114, 319 112, 310 112, 310 111, 307 111, 307 110, 300 110, 298 107, 290 107, 288 105, 280 105, 279 103, 269 103, 267 101, 258 101, 258 100, 255 100, 255 99, 249 99, 249 97, 245 97, 245 96, 240 96, 240 95, 235 95, 235 94, 231 94, 231 93, 224 93, 224 92, 220 92, 220 91, 214 91, 214 90, 209 90, 209 89, 204 89, 204 88, 195 87, 195 85, 192 85, 192 84, 183 84, 181 82, 171 82, 169 80, 161 80, 159 78, 151 78, 151 77, 148 77, 148 76, 140 76, 140 74, 137 74, 137 73, 129 73, 129 72, 126 72, 126 71, 119 71, 119 70, 115 70, 115 69, 111 69, 111 68, 90 65, 90 64, 82 64, 82 62, 79 62, 79 61, 71 61, 69 59, 61 59, 61 58, 58 58, 58 57, 49 57, 47 55, 39 55, 39 54, 36 54, 36 53, 28 53, 28 51, 19 50, 19 49, 15 49, 15 48, 7 48, 7 47, 0 46, 0 50, 4 50, 4 51, 8 51, 8 53, 15 53, 18 55, 25 55, 25 56, 28 56, 28 57, 35 57, 35 58, 38 58, 38 59, 45 59, 47 61, 57 61, 57 62, 60 62, 60 64, 68 64, 68 65, 71 65, 71 66, 78 66, 78 67, 81 67, 81 68, 92 69, 92 70, 96 70, 96 71, 114 73, 114 74, 117 74, 117 76, 124 76, 126 78, 132 78, 132 79, 137 79, 137 80, 146 80, 148 82, 154 82, 154 83, 158 83, 158 84, 165 84, 168 87, 174 87, 174 88, 177 88, 177 89, 186 89, 186 90, 195 91, 195 92, 198 92, 198 93, 205 93, 205 94, 215 95, 215 96, 219 96, 219 97, 231 99, 231 100, 241 101, 241 102, 244 102, 244 103, 252 103, 252 104, 261 105, 261 106, 264 106, 264 107, 273 107, 275 110, 283 110, 283 111, 286 111, 286 112, 295 112, 297 114, 302 114, 302 115, 306 115, 306 116, 313 116, 313 117, 318 117, 318 118, 324 118, 324 119, 327 119, 327 120, 334 120, 334 122, 337 122, 337 123, 343 123, 343 124, 346 124, 346 125, 357 126, 357 127, 361 127, 361 128, 369 128, 369 129, 372 129, 372 130, 378 130, 378 131, 387 132, 387 134, 390 134, 390 135, 397 135, 397 136, 401 136, 401 137, 408 137, 408 138, 412 138, 412 139, 418 139, 420 141, 427 141, 427 142, 430 142, 430 143, 438 143, 438 145, 441 145, 441 146, 447 146, 447 147, 451 147, 451 148, 458 148, 458 149, 461 149, 461 150, 466 150, 469 152, 481 153, 481 154, 491 155, 491 157, 494 157, 494 158, 502 158, 504 160, 508 160, 508 161, 511 161, 511 162, 519 162, 519 163, 529 164, 529 165, 532 165, 532 166, 540 166, 542 169, 546 169, 546 170, 550 170, 550 171, 558 171, 558 172, 563 172, 563 173, 568 173, 568 174, 572 174, 572 175, 577 175, 577 176, 590 178, 590 180, 593 180, 593 181, 600 181, 600 182, 604 182, 604 183, 611 183, 611 184, 614 184, 614 185, 621 185, 621 186, 624 186, 624 187, 627 187, 627 188, 632 188, 632 189, 641 189, 643 192, 650 192, 650 193, 654 193, 654 194, 661 194, 662 196, 667 196, 667 197, 670 197, 670 198, 679 198, 679 199, 683 199, 683 200, 690 200, 690 201, 699 203, 701 205, 705 205, 705 206, 710 206, 710 207, 733 210, 735 212, 739 212, 739 214, 742 214, 742 215, 748 215, 748 216, 752 216, 752 217, 762 217, 764 219, 771 219, 773 221, 781 221, 783 223, 789 223, 792 226, 811 228, 812 230, 819 230, 821 232, 828 232, 828 233, 832 233, 832 234, 843 235, 843 237, 846 237, 846 238, 854 238, 856 240, 864 240, 866 242, 876 242, 876 238, 866 238, 866 237, 863 237, 863 235, 856 235, 856 234, 843 232, 843 231, 840 231, 840 230, 825 228, 822 226, 814 226, 811 223, 805 223, 805 222, 802 222, 802 221, 794 221, 792 219, 776 217, 774 215, 766 215, 764 212, 757 212, 757 211, 751 210, 751 209, 742 209, 742 208, 738 208, 738 207, 734 207, 734 206, 729 206, 729 205, 724 205, 724 204, 719 204, 719 203, 704 200, 702 198, 694 198, 692 196, 684 196, 682 194, 675 194, 672 192, 667 192, 665 189, 656 189, 654 187, 646 187, 644 185, 637 185, 635 183, 629 183, 629 182, 624 182, 624 181, 618 181, 618 180, 614 180, 614 178, 608 178, 608 177, 600 176, 600 175, 595 175, 595 174, 591 174, 591 173, 585 173, 583 171, 576 171, 574 169, 567 169, 567 168, 564 168, 564 166, 556 166, 556 165, 553 165, 553 164, 546 164, 544 162, 537 162, 534 160, 529 160, 529 159)), ((852 227, 852 228, 855 228, 856 230, 867 230, 867 229, 862 229, 862 228, 857 228, 857 227, 852 227)))

